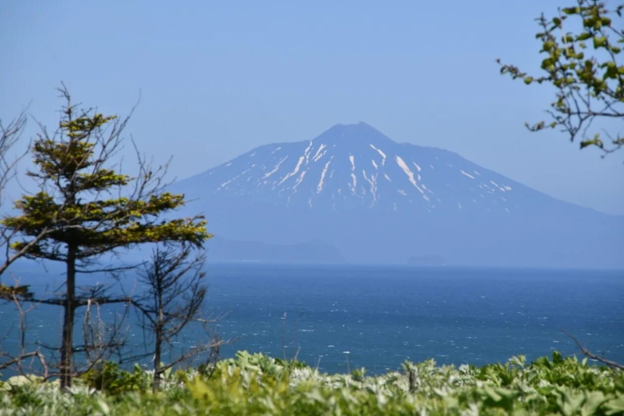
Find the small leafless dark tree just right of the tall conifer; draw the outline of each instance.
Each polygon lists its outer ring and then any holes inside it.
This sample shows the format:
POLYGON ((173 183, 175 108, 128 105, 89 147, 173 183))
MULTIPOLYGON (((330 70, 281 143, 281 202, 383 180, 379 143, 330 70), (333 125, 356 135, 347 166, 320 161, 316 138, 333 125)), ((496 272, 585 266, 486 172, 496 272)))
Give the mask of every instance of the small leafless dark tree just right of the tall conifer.
POLYGON ((187 352, 162 363, 164 355, 171 355, 172 342, 190 324, 199 324, 204 330, 215 319, 204 319, 201 308, 207 288, 202 271, 205 256, 193 253, 192 247, 157 247, 152 259, 139 274, 139 281, 147 286, 146 293, 135 301, 140 311, 142 327, 154 334, 154 344, 146 354, 154 357, 154 391, 160 388, 163 372, 174 365, 204 352, 214 354, 223 344, 218 337, 197 342, 187 352))

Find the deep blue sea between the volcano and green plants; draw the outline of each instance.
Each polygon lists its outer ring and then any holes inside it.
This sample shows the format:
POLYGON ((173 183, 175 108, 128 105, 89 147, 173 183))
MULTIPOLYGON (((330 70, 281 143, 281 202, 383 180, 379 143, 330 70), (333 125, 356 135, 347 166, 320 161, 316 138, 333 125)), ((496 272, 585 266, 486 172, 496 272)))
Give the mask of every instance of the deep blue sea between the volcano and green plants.
MULTIPOLYGON (((229 312, 218 327, 235 339, 223 356, 246 349, 290 358, 300 349, 299 359, 328 372, 346 371, 348 359, 350 369, 376 373, 404 360, 478 365, 578 353, 568 331, 624 361, 622 271, 211 264, 207 273, 206 309, 229 312)), ((23 283, 31 279, 41 276, 23 283)), ((0 307, 0 333, 11 314, 0 307)), ((29 337, 57 339, 60 319, 60 310, 39 307, 29 337)), ((180 348, 197 334, 185 333, 180 348)))

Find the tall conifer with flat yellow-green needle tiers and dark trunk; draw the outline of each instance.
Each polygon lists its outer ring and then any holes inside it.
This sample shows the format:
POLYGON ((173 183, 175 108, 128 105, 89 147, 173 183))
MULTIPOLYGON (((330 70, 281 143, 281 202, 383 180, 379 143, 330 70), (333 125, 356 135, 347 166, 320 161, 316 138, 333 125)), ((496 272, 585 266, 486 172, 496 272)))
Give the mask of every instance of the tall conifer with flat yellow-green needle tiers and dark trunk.
POLYGON ((6 216, 2 224, 21 233, 22 238, 12 243, 15 251, 26 248, 27 258, 66 264, 64 294, 39 300, 64 309, 59 376, 65 388, 71 386, 74 374, 76 309, 94 301, 97 293, 80 296, 77 274, 94 271, 97 259, 115 249, 163 241, 201 247, 210 235, 202 216, 162 219, 164 213, 184 205, 183 195, 163 191, 162 168, 152 170, 139 158, 137 177, 117 172, 113 158, 129 117, 120 120, 92 109, 78 110, 64 85, 59 91, 66 100, 59 127, 52 136, 42 128, 32 145, 36 169, 27 174, 39 190, 17 200, 14 206, 21 214, 6 216), (46 230, 43 236, 42 230, 46 230))

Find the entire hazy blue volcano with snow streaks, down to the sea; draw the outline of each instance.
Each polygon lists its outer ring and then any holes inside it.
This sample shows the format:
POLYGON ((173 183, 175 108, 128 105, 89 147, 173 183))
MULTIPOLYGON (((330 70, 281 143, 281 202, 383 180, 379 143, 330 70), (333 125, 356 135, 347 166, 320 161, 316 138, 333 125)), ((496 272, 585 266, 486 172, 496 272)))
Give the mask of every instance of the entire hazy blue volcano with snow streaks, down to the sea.
POLYGON ((196 200, 188 208, 203 211, 213 233, 322 239, 351 261, 623 263, 621 217, 555 200, 456 153, 396 143, 366 123, 255 148, 174 190, 196 200))

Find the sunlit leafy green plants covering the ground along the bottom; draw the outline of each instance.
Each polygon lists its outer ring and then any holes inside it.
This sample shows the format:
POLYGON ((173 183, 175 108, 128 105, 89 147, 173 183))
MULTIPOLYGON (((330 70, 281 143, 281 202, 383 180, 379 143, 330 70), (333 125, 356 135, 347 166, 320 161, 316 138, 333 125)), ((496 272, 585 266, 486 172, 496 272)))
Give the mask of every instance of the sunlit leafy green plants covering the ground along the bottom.
POLYGON ((0 384, 0 415, 624 414, 624 372, 558 352, 530 364, 522 356, 484 367, 406 362, 402 372, 369 377, 238 352, 216 367, 169 372, 157 393, 152 377, 138 365, 107 364, 69 394, 57 382, 14 377, 0 384))

